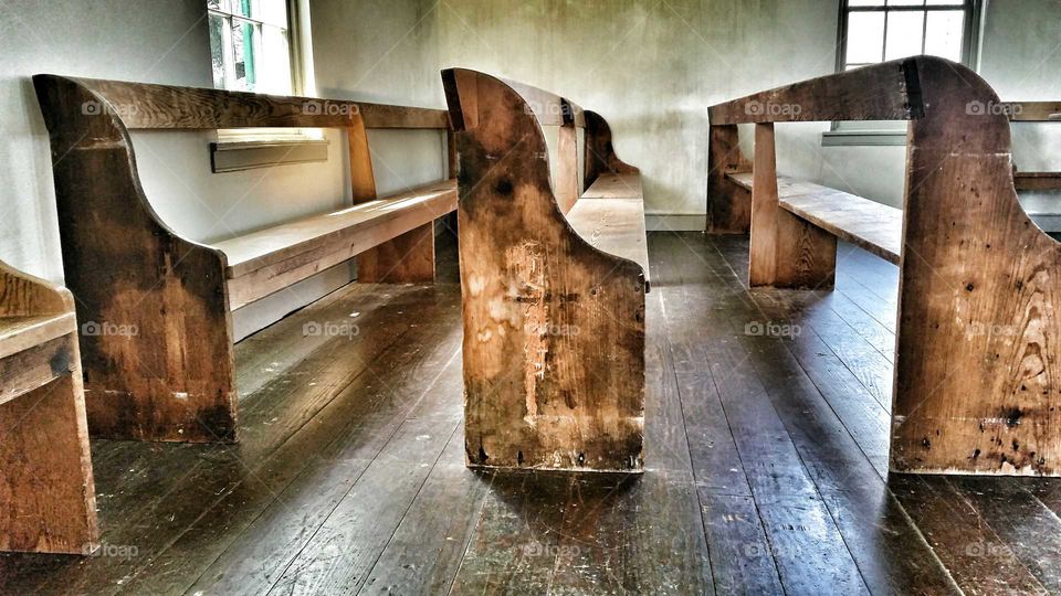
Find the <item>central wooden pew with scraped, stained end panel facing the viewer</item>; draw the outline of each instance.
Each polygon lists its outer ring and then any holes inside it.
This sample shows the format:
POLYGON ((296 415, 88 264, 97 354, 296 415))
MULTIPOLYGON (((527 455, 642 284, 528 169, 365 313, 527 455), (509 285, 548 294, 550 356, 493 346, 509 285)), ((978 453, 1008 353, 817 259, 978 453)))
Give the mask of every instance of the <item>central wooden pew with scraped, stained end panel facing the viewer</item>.
POLYGON ((563 97, 474 71, 442 77, 460 155, 468 464, 641 471, 640 173, 603 118, 563 97))

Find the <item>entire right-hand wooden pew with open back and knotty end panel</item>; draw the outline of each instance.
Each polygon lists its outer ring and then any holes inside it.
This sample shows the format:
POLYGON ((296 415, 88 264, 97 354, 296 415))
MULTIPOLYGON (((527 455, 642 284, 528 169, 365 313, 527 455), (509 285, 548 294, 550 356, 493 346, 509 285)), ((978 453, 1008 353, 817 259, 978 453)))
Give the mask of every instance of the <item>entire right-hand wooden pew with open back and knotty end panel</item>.
POLYGON ((1018 202, 1009 118, 983 109, 999 105, 976 73, 918 56, 711 108, 713 127, 755 125, 753 285, 829 285, 836 236, 891 246, 882 256, 893 257, 902 222, 895 472, 1061 476, 1061 245, 1018 202), (844 210, 869 213, 858 198, 791 191, 775 170, 775 123, 854 119, 908 120, 904 209, 874 207, 872 242, 862 220, 844 220, 844 210))

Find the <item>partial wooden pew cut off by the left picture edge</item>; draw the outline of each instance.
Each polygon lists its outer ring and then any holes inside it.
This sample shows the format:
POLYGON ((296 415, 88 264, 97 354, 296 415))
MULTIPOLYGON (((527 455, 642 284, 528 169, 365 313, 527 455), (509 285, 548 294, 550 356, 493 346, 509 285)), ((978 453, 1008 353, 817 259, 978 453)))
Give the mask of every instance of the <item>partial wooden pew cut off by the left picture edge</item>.
POLYGON ((98 546, 70 291, 0 262, 0 551, 98 546))

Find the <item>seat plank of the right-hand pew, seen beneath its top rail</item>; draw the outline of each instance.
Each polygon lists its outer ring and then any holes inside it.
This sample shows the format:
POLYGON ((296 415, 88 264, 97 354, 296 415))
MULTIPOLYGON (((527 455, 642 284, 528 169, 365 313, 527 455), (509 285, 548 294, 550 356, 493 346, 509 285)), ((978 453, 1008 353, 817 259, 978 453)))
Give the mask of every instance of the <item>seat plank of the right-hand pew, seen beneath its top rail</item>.
MULTIPOLYGON (((750 172, 727 178, 752 192, 750 172)), ((899 265, 903 210, 811 182, 777 177, 778 205, 830 234, 899 265)))

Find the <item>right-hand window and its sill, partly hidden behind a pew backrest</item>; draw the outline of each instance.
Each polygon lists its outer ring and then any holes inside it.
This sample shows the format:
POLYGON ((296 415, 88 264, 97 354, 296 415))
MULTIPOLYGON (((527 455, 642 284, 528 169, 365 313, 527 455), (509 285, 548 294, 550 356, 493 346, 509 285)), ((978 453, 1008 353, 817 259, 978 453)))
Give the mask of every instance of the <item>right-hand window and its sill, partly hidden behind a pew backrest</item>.
MULTIPOLYGON (((979 0, 841 0, 837 71, 929 54, 974 66, 979 0)), ((822 145, 904 145, 905 123, 833 123, 822 145)))

